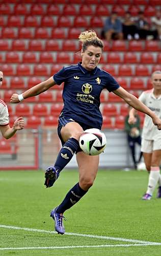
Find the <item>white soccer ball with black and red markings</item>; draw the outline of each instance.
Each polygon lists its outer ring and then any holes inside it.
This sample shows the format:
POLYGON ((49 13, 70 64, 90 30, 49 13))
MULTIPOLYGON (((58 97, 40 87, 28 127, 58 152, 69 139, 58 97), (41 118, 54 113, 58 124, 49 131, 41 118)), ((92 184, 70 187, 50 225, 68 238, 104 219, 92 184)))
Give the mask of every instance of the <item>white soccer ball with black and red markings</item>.
POLYGON ((106 146, 105 135, 99 129, 87 129, 79 139, 79 146, 87 155, 99 155, 106 146))

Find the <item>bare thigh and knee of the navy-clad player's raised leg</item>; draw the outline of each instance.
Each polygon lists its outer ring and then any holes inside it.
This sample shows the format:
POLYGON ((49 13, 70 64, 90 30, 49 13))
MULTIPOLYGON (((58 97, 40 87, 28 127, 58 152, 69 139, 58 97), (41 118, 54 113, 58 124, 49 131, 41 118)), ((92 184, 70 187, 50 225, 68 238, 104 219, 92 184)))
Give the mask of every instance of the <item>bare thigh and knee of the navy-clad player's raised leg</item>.
POLYGON ((76 122, 69 122, 61 129, 61 137, 64 142, 67 141, 69 138, 75 138, 79 140, 82 133, 82 126, 76 122))

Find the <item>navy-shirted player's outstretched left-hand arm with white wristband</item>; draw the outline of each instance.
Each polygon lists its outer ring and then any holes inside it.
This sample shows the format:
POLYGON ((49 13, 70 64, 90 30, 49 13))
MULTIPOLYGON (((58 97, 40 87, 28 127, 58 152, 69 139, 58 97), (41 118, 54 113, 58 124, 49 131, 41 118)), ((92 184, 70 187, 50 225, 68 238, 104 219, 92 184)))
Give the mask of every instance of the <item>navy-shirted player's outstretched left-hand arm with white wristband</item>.
POLYGON ((55 86, 56 82, 53 80, 53 77, 51 76, 49 79, 47 79, 46 81, 43 81, 39 84, 37 84, 36 86, 30 88, 29 90, 25 91, 22 94, 12 94, 11 96, 11 103, 18 103, 20 101, 22 101, 23 99, 32 97, 32 96, 36 96, 40 93, 43 93, 45 91, 47 91, 50 87, 55 86))

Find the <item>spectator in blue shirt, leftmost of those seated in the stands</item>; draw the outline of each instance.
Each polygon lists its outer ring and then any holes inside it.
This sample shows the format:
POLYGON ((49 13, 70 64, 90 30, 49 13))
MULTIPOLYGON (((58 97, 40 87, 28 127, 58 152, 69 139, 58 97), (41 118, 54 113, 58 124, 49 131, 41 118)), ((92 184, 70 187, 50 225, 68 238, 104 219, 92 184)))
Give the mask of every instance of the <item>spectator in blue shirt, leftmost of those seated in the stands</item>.
POLYGON ((117 17, 117 13, 113 12, 110 17, 106 18, 103 34, 106 40, 123 39, 122 23, 117 17))

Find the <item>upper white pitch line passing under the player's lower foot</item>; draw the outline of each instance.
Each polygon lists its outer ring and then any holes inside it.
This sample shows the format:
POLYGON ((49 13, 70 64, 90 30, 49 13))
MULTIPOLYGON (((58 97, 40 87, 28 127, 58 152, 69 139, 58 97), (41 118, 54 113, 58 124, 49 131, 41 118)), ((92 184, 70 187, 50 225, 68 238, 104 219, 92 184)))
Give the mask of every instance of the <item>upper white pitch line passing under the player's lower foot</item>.
MULTIPOLYGON (((0 228, 9 228, 9 229, 18 229, 18 230, 25 230, 25 231, 32 231, 32 232, 41 232, 41 233, 57 233, 56 231, 50 230, 43 230, 43 229, 35 229, 35 228, 26 228, 26 227, 15 227, 15 226, 7 226, 7 225, 0 225, 0 228)), ((126 239, 126 238, 114 238, 114 237, 106 237, 106 236, 97 236, 94 234, 79 234, 79 233, 65 233, 64 236, 77 236, 77 237, 88 237, 88 238, 97 238, 97 239, 105 239, 105 240, 115 240, 115 241, 122 241, 122 242, 130 242, 130 243, 139 243, 139 244, 147 244, 147 245, 161 245, 161 243, 149 242, 149 241, 142 241, 142 240, 134 240, 134 239, 126 239)))

